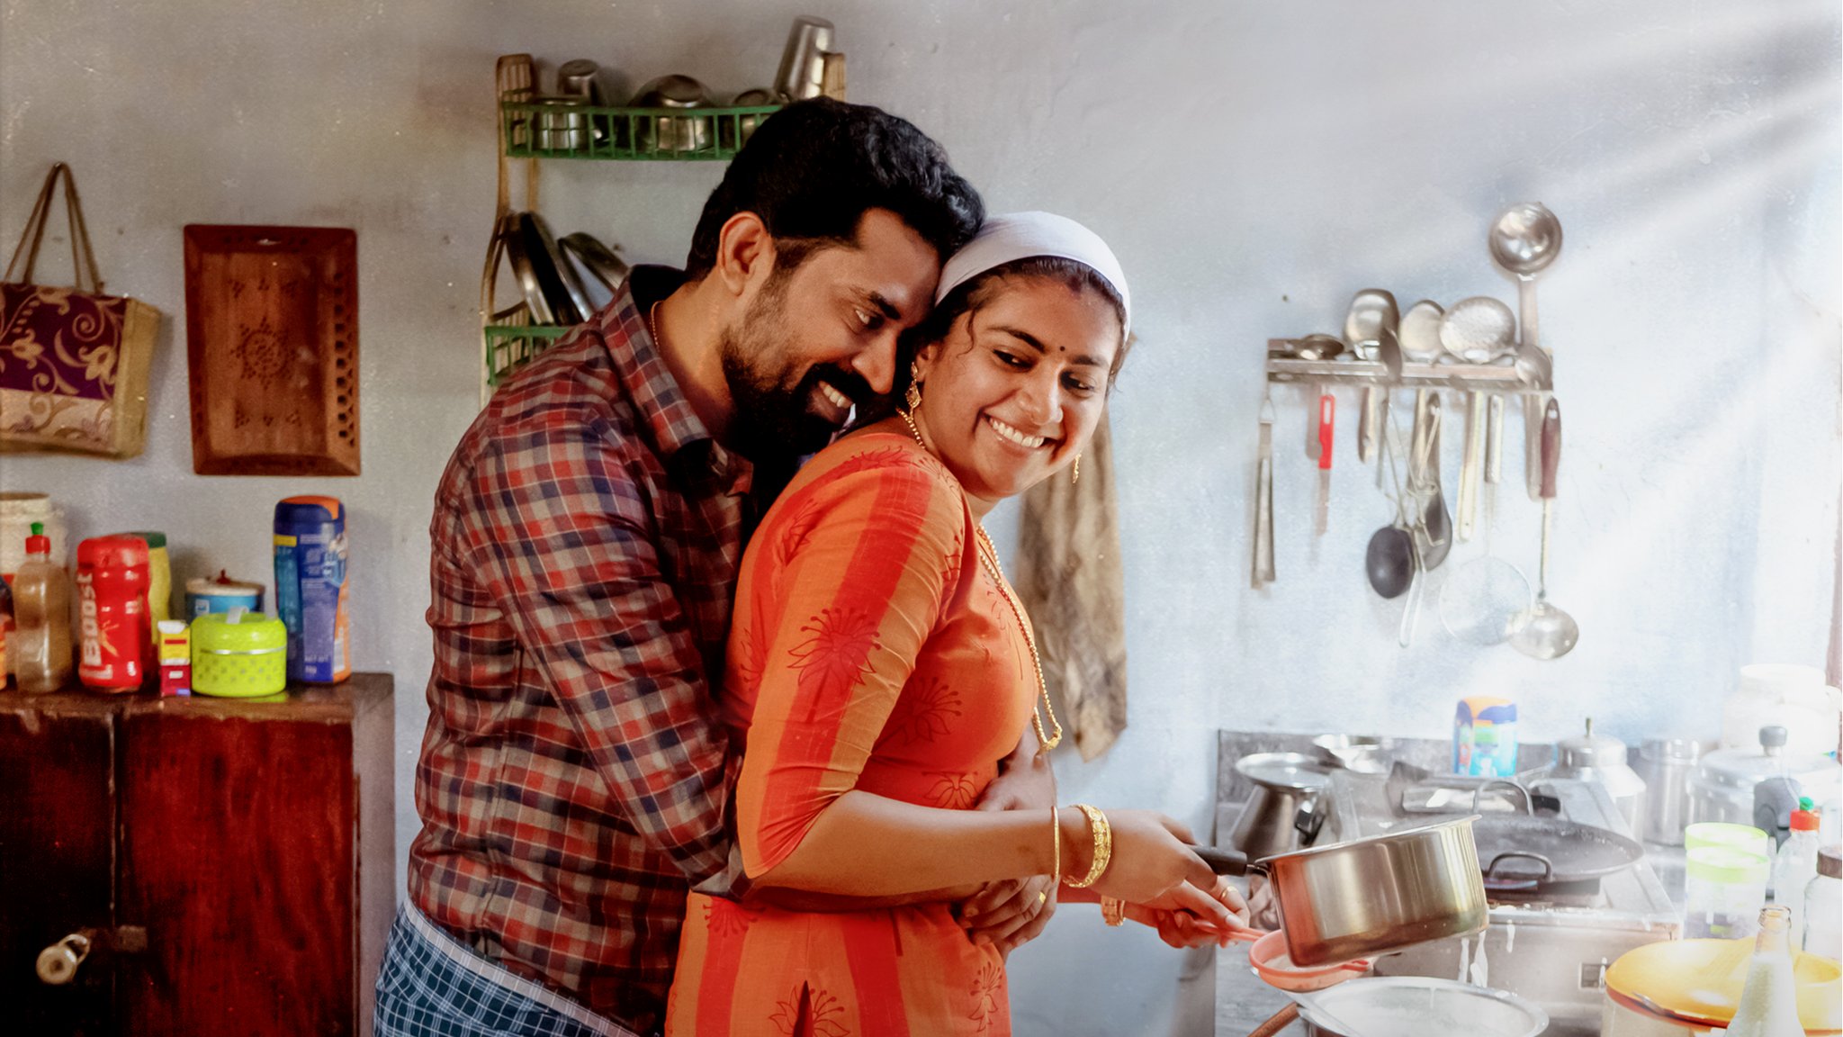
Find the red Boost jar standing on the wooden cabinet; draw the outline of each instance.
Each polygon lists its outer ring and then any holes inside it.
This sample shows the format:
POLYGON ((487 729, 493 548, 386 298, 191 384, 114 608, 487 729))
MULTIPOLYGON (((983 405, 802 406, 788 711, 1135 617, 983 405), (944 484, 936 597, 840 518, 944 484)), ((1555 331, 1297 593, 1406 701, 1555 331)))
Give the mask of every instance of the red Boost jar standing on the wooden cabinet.
POLYGON ((136 692, 153 664, 147 614, 147 541, 90 537, 77 544, 77 679, 103 692, 136 692))

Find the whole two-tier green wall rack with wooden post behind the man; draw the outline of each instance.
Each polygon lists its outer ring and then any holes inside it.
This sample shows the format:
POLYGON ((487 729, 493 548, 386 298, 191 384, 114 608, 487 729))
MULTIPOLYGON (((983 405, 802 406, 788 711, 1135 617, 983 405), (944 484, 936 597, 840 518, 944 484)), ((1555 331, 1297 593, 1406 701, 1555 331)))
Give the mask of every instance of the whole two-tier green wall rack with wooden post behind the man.
MULTIPOLYGON (((536 96, 536 70, 529 54, 507 54, 494 66, 499 137, 499 190, 492 214, 492 244, 479 279, 481 367, 479 406, 487 406, 499 382, 529 364, 568 327, 533 323, 531 306, 523 299, 494 310, 499 260, 503 255, 499 227, 512 212, 512 164, 523 166, 523 209, 538 209, 538 159, 579 159, 603 162, 726 162, 741 148, 748 124, 759 124, 780 105, 697 107, 697 109, 634 109, 599 105, 549 105, 536 96), (542 120, 564 120, 546 131, 542 120), (704 148, 660 148, 660 120, 710 120, 711 133, 704 148), (601 140, 597 140, 597 131, 601 140)), ((669 138, 669 137, 667 137, 669 138)))

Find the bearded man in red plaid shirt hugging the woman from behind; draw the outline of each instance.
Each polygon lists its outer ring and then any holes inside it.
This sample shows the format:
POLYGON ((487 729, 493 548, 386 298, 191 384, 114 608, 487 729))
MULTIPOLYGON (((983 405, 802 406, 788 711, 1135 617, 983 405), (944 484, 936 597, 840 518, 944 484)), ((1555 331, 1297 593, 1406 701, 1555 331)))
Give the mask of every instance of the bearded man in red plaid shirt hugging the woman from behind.
POLYGON ((686 889, 726 888, 710 681, 745 533, 890 391, 898 334, 980 218, 914 125, 791 105, 711 194, 687 269, 638 268, 466 432, 429 526, 422 832, 380 1035, 660 1024, 686 889))

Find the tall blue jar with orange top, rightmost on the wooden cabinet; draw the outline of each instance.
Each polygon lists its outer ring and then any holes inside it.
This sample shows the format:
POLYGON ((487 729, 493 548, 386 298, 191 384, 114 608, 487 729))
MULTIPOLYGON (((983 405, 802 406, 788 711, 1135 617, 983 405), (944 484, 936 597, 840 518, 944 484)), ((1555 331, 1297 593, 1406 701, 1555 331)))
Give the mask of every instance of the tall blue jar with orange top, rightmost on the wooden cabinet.
POLYGON ((289 679, 332 685, 352 673, 339 498, 289 496, 275 506, 275 611, 288 627, 289 679))

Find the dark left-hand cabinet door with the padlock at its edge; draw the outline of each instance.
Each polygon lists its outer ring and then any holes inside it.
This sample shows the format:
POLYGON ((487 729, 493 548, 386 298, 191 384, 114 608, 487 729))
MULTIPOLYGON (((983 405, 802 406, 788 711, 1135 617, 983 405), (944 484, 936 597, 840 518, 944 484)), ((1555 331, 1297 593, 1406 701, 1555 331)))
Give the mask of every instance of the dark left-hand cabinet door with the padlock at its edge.
POLYGON ((111 954, 63 985, 35 967, 65 936, 114 926, 114 721, 107 703, 48 712, 0 697, 0 1028, 103 1037, 116 1019, 111 954))

